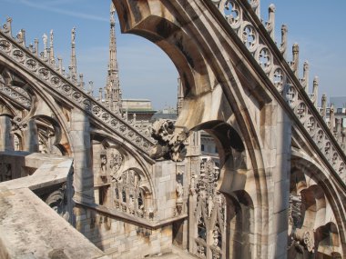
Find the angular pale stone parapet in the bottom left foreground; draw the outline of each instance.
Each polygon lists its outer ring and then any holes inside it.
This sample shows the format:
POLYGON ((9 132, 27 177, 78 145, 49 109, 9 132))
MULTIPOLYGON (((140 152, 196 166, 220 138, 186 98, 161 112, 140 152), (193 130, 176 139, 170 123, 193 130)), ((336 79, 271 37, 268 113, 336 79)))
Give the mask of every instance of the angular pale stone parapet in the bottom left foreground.
POLYGON ((66 221, 73 218, 71 158, 0 152, 0 161, 0 258, 108 258, 66 221))

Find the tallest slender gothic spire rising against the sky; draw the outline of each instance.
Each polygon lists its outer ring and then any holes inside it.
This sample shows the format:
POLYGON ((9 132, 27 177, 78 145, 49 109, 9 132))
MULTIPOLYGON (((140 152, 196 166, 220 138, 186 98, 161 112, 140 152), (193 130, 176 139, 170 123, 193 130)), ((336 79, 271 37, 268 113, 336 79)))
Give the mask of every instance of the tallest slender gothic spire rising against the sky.
POLYGON ((109 33, 109 62, 105 99, 108 107, 116 114, 121 114, 121 90, 117 68, 117 39, 116 39, 116 8, 110 5, 110 33, 109 33))

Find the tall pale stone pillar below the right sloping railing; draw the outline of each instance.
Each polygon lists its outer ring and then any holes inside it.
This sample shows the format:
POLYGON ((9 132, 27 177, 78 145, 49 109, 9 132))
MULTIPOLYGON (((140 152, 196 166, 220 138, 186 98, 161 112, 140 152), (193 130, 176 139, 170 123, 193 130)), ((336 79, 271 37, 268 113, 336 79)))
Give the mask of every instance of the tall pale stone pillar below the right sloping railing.
POLYGON ((290 196, 290 152, 291 152, 291 122, 290 117, 277 105, 273 105, 273 117, 268 127, 271 136, 268 145, 269 153, 266 171, 271 172, 272 184, 269 189, 270 238, 269 246, 273 254, 268 258, 286 258, 288 237, 288 214, 290 196), (275 117, 274 117, 275 118, 275 117), (275 252, 274 252, 275 251, 275 252))

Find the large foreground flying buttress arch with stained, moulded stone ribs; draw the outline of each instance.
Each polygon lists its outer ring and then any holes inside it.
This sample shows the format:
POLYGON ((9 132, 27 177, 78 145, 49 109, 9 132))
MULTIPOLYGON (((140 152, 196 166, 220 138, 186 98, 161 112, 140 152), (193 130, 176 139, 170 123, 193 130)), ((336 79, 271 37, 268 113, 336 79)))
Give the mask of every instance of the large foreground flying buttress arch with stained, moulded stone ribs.
MULTIPOLYGON (((267 222, 270 207, 267 187, 269 179, 265 172, 266 158, 261 151, 261 125, 255 119, 258 114, 251 114, 253 110, 249 109, 261 111, 271 100, 270 96, 261 90, 260 85, 264 88, 265 83, 260 82, 259 78, 255 79, 256 76, 249 78, 250 72, 247 70, 249 67, 246 68, 243 64, 244 55, 239 55, 243 45, 239 47, 238 42, 234 40, 236 35, 229 25, 226 26, 227 22, 223 24, 224 20, 219 19, 221 15, 218 16, 219 11, 215 13, 217 10, 212 9, 215 6, 206 1, 119 0, 113 3, 117 9, 122 32, 144 36, 166 53, 176 49, 179 44, 182 44, 180 49, 184 50, 188 50, 188 45, 192 45, 195 46, 194 51, 199 53, 196 56, 202 57, 194 61, 200 62, 201 67, 205 66, 208 75, 201 77, 198 72, 204 73, 204 70, 192 70, 195 80, 188 81, 195 84, 188 85, 189 88, 196 88, 196 93, 202 94, 184 96, 176 125, 190 130, 197 125, 212 120, 227 120, 231 114, 234 115, 239 125, 239 132, 243 136, 247 158, 249 157, 248 170, 256 186, 252 188, 251 194, 258 210, 256 214, 264 219, 263 222, 258 221, 255 226, 258 235, 256 240, 259 244, 255 247, 255 254, 262 257, 270 256, 268 250, 270 239, 267 237, 273 229, 266 227, 269 224, 267 222), (148 25, 148 21, 154 19, 154 16, 155 26, 148 25), (176 25, 178 28, 172 26, 173 30, 158 30, 158 19, 162 20, 164 25, 176 25), (177 34, 176 29, 188 35, 188 40, 172 41, 177 34), (214 100, 217 100, 217 104, 214 100)), ((189 53, 186 54, 186 57, 190 56, 189 53)), ((169 57, 181 73, 184 66, 179 64, 178 58, 175 60, 175 56, 169 55, 169 57)), ((180 74, 180 78, 184 78, 184 75, 180 74)))

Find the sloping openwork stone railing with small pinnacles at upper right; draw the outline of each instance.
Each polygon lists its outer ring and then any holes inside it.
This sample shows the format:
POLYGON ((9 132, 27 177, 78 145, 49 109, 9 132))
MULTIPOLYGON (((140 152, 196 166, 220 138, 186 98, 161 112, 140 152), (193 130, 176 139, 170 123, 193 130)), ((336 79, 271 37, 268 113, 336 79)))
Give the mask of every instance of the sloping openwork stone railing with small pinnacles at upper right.
MULTIPOLYGON (((299 79, 299 46, 293 45, 293 61, 286 62, 287 27, 282 25, 281 44, 274 43, 275 6, 270 5, 269 21, 260 20, 260 0, 210 0, 219 8, 231 28, 239 35, 250 54, 270 78, 282 98, 300 120, 312 141, 321 150, 332 168, 344 178, 346 158, 329 127, 325 124, 315 105, 317 94, 308 95, 308 64, 299 79)), ((314 80, 314 86, 318 84, 314 80)))

